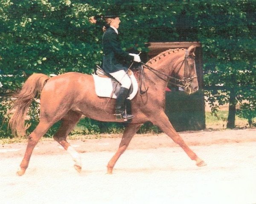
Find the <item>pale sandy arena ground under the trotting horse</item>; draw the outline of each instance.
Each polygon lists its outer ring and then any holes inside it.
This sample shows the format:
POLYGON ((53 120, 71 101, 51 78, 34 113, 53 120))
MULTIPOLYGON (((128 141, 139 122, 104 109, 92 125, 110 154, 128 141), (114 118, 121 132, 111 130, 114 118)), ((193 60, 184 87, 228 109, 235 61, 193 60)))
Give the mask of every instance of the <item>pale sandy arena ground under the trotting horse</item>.
POLYGON ((81 153, 81 174, 57 142, 41 141, 16 176, 26 143, 2 144, 0 203, 256 204, 256 129, 180 135, 207 166, 197 167, 165 134, 135 135, 112 175, 106 165, 120 138, 69 140, 81 153))

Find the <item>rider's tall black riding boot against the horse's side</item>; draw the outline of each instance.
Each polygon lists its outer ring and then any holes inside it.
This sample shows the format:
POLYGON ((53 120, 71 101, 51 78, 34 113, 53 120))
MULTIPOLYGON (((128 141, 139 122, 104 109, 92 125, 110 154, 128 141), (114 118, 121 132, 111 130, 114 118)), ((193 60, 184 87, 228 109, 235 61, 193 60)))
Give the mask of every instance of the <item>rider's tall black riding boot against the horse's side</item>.
POLYGON ((128 94, 128 89, 121 86, 116 98, 116 119, 132 119, 134 115, 125 113, 125 99, 128 94))

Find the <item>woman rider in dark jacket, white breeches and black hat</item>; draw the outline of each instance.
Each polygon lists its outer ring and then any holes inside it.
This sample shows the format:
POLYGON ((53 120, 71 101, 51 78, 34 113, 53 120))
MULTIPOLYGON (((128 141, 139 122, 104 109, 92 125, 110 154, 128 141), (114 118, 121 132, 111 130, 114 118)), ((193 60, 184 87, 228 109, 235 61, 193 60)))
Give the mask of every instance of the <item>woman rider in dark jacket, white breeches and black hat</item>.
POLYGON ((138 54, 131 54, 122 50, 119 39, 118 31, 119 23, 121 22, 118 15, 105 16, 106 26, 103 27, 103 69, 111 74, 121 84, 120 91, 116 98, 116 111, 117 119, 132 119, 134 116, 125 114, 125 99, 128 90, 131 86, 131 79, 126 74, 127 67, 122 64, 124 60, 134 60, 140 62, 138 54))

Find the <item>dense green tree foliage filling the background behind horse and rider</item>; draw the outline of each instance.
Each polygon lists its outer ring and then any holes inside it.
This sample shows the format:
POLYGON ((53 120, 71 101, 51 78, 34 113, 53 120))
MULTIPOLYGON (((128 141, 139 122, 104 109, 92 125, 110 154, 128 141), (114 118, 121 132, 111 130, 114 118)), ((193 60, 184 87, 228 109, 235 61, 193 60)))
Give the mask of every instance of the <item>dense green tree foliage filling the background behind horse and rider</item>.
POLYGON ((255 7, 255 0, 0 0, 0 94, 32 73, 91 73, 102 62, 101 16, 116 11, 128 51, 148 51, 145 42, 200 41, 212 111, 215 102, 229 103, 233 127, 237 102, 256 106, 255 7))

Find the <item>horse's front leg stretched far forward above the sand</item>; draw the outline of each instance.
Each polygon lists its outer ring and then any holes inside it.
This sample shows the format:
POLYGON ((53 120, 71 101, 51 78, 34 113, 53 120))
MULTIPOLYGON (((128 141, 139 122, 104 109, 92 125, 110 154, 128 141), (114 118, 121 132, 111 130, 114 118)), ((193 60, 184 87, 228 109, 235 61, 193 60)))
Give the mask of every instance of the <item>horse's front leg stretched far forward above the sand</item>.
POLYGON ((207 165, 204 163, 202 159, 200 159, 189 147, 188 145, 184 142, 184 140, 180 137, 180 135, 176 132, 174 127, 172 126, 171 122, 169 121, 168 117, 166 114, 161 111, 160 115, 157 117, 153 117, 151 122, 154 125, 157 125, 158 127, 161 128, 161 130, 164 131, 170 138, 173 139, 173 141, 177 144, 180 145, 180 147, 186 152, 186 154, 189 156, 190 159, 196 161, 196 165, 198 167, 202 167, 207 165))

